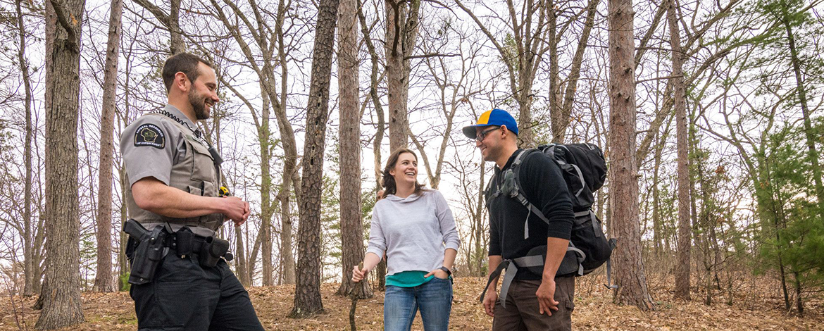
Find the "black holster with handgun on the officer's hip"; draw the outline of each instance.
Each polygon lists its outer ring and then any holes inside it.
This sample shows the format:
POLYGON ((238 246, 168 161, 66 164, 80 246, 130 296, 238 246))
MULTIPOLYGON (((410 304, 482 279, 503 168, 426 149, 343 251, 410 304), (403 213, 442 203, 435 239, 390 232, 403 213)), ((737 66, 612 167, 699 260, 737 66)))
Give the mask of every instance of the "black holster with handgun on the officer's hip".
POLYGON ((129 283, 142 285, 152 282, 157 266, 169 252, 165 243, 168 233, 163 226, 155 226, 152 231, 148 231, 133 219, 126 221, 123 231, 129 234, 130 242, 137 244, 130 257, 132 272, 129 274, 129 283))

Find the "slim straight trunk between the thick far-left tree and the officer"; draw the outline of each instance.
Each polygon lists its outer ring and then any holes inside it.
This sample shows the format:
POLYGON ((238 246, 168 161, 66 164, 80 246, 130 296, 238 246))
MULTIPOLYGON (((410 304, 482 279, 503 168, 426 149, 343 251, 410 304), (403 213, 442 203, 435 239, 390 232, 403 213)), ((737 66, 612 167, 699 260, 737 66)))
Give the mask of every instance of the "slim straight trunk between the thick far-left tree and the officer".
POLYGON ((103 109, 101 110, 100 180, 97 193, 97 273, 94 291, 115 291, 111 274, 111 197, 112 156, 115 151, 115 92, 117 91, 117 60, 119 58, 123 0, 111 1, 109 40, 106 43, 103 73, 103 109))

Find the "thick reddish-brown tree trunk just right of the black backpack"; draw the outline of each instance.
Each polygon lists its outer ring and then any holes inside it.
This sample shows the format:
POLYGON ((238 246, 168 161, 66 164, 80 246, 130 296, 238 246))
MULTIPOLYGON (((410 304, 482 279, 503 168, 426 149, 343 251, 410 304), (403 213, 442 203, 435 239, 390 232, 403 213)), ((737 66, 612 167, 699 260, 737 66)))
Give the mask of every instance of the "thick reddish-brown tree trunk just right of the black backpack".
POLYGON ((635 70, 632 0, 609 0, 611 235, 618 239, 615 299, 652 310, 641 257, 638 163, 635 160, 635 70))

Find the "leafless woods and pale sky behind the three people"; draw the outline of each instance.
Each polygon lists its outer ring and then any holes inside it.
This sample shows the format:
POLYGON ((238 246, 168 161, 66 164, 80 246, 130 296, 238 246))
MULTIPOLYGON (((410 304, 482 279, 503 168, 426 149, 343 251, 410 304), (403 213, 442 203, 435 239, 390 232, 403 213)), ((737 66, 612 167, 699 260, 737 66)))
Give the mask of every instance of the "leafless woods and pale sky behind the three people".
POLYGON ((80 291, 128 288, 116 142, 165 105, 162 64, 187 51, 214 64, 222 102, 199 125, 252 208, 222 228, 232 268, 297 282, 296 316, 322 309, 321 282, 353 287, 397 147, 455 213, 456 276, 486 275, 492 165, 460 128, 491 108, 522 147, 605 151, 616 302, 655 309, 653 277, 707 305, 765 279, 794 314, 820 298, 822 1, 361 1, 0 0, 3 293, 59 293, 49 329, 83 319, 80 291))

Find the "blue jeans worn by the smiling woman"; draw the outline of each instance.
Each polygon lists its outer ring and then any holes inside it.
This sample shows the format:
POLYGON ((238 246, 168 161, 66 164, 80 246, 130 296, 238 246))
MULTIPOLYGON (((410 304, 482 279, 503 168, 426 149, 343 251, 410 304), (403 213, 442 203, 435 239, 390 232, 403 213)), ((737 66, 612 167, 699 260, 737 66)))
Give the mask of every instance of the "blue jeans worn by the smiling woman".
POLYGON ((452 279, 433 277, 417 287, 386 287, 384 331, 408 331, 420 308, 425 331, 446 331, 452 311, 452 279))

